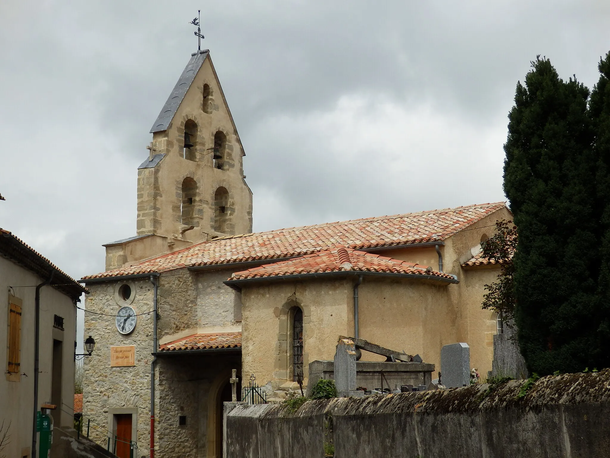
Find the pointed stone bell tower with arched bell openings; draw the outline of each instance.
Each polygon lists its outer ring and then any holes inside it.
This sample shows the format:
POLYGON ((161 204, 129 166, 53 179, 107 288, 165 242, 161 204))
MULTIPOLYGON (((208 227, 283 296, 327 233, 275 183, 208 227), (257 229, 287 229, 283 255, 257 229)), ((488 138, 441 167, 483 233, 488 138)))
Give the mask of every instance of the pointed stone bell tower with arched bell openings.
POLYGON ((245 156, 209 50, 191 55, 138 167, 137 236, 106 246, 114 269, 252 231, 245 156))

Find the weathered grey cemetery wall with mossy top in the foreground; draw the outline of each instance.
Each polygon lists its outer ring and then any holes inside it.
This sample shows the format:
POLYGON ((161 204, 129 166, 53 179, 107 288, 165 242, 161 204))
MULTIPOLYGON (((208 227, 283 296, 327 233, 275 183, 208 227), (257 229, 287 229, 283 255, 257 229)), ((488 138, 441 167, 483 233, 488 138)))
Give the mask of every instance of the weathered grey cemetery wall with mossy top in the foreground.
POLYGON ((225 404, 226 458, 589 457, 610 450, 610 369, 497 387, 225 404), (231 410, 232 409, 232 410, 231 410), (334 450, 331 452, 331 445, 334 450))

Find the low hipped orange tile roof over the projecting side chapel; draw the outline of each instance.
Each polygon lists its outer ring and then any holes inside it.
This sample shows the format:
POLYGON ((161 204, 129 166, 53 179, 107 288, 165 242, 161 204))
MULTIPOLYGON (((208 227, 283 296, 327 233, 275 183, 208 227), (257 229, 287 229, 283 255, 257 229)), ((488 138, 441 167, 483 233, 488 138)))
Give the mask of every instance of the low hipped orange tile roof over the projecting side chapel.
POLYGON ((233 274, 229 280, 246 278, 282 277, 298 274, 321 274, 323 272, 384 272, 389 274, 432 275, 433 277, 454 280, 453 275, 437 272, 426 266, 406 261, 357 251, 338 245, 312 255, 300 256, 281 263, 265 264, 233 274))

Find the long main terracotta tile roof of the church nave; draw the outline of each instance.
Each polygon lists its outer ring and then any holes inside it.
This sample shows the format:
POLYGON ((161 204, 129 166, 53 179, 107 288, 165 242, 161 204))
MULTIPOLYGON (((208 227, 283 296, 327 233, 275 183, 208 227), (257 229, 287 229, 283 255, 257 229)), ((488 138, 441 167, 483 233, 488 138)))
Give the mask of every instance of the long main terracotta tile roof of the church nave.
POLYGON ((83 280, 165 272, 182 267, 290 258, 328 250, 336 245, 370 249, 442 241, 503 207, 504 202, 484 203, 228 236, 134 266, 90 275, 83 280))

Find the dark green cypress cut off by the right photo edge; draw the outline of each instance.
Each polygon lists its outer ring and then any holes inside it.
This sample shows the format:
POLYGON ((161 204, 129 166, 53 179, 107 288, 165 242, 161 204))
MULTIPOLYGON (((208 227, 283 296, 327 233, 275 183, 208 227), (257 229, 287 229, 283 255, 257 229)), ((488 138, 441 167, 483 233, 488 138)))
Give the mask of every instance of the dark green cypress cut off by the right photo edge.
POLYGON ((597 325, 595 347, 597 367, 610 367, 610 53, 600 59, 600 79, 591 92, 589 114, 595 132, 594 151, 598 158, 597 201, 601 214, 600 276, 593 324, 597 325))

